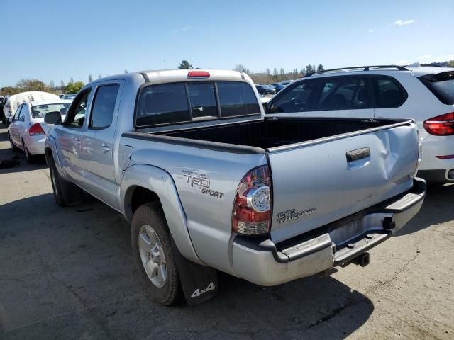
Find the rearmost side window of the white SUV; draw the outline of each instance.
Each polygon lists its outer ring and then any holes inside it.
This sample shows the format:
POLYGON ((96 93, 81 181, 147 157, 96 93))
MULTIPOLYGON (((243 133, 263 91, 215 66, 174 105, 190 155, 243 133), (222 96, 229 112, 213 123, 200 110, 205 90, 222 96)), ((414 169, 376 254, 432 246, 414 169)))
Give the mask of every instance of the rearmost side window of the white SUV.
POLYGON ((398 108, 407 98, 404 88, 392 77, 371 77, 375 108, 398 108))

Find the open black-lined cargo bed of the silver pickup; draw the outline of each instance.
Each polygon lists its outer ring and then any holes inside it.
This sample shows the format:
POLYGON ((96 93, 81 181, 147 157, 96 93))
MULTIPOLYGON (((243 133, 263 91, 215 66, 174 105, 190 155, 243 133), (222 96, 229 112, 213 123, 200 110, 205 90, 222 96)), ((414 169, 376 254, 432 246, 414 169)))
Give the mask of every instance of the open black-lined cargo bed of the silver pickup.
POLYGON ((265 118, 246 123, 218 124, 202 128, 155 132, 189 140, 221 142, 270 149, 299 142, 385 127, 404 120, 358 118, 265 118))

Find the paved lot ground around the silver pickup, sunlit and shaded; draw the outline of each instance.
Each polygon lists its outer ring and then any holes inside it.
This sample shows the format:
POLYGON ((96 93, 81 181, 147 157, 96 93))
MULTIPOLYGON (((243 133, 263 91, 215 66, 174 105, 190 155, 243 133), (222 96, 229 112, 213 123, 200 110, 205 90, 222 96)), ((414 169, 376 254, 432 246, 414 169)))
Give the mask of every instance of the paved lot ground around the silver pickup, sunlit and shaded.
POLYGON ((0 170, 0 339, 454 339, 453 186, 429 188, 365 268, 274 288, 221 274, 216 298, 170 308, 143 295, 123 217, 59 208, 45 162, 19 155, 0 170))

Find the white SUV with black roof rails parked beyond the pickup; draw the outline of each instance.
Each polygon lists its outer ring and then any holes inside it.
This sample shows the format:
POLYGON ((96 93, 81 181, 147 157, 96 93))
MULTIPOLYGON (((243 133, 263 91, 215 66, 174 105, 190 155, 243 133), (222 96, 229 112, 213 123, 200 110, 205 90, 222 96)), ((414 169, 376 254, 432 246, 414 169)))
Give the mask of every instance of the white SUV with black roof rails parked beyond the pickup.
POLYGON ((267 114, 294 117, 413 118, 419 128, 418 176, 454 182, 454 69, 349 67, 316 72, 288 85, 267 114))

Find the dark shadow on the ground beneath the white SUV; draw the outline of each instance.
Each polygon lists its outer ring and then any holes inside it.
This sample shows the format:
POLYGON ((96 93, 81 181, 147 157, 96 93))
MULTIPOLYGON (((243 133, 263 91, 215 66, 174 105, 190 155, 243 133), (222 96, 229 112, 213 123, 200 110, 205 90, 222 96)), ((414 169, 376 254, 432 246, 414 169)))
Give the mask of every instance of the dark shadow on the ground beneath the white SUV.
POLYGON ((426 198, 421 210, 395 236, 403 236, 431 225, 454 220, 454 186, 428 186, 426 198))

